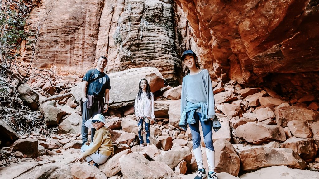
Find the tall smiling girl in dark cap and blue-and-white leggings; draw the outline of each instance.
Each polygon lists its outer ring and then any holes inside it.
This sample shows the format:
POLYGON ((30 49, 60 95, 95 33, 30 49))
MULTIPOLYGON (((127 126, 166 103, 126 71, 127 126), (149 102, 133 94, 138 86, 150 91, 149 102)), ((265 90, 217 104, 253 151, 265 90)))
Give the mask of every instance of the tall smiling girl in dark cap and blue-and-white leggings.
POLYGON ((195 179, 206 177, 200 147, 199 122, 203 128, 206 146, 209 166, 208 178, 218 179, 214 172, 215 152, 212 140, 212 119, 215 117, 215 108, 211 77, 208 70, 199 68, 196 63, 196 54, 192 50, 186 50, 181 60, 189 68, 189 74, 183 78, 182 82, 181 120, 179 126, 186 131, 188 124, 192 134, 193 152, 198 168, 195 179))

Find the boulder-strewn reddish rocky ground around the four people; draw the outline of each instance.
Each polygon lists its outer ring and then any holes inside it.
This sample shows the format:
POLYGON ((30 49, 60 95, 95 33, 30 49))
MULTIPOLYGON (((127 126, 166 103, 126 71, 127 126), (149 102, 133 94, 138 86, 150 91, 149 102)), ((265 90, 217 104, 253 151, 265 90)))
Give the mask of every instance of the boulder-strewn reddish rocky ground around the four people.
MULTIPOLYGON (((110 110, 105 115, 114 156, 99 168, 87 166, 85 161, 74 162, 81 147, 80 78, 37 76, 19 87, 19 98, 30 109, 40 110, 38 117, 48 130, 57 131, 48 135, 44 128, 33 128, 18 135, 6 120, 0 120, 2 133, 12 138, 12 142, 1 144, 0 178, 193 178, 197 165, 191 134, 178 127, 181 86, 164 86, 159 70, 151 67, 109 76, 110 110), (138 144, 132 106, 138 81, 144 77, 157 96, 148 147, 138 144), (72 95, 66 97, 68 94, 72 95), (62 98, 50 100, 54 97, 62 98)), ((311 179, 319 175, 319 105, 312 97, 287 102, 267 88, 242 88, 236 81, 212 81, 212 85, 222 125, 213 133, 219 178, 311 179)), ((207 168, 204 141, 201 145, 207 168)))

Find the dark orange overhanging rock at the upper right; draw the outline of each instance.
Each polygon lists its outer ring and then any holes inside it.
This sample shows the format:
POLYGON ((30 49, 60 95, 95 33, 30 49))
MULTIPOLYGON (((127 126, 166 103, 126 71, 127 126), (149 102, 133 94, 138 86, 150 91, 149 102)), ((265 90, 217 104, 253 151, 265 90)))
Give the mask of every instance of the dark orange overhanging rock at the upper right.
POLYGON ((318 1, 179 2, 212 76, 318 94, 318 1))

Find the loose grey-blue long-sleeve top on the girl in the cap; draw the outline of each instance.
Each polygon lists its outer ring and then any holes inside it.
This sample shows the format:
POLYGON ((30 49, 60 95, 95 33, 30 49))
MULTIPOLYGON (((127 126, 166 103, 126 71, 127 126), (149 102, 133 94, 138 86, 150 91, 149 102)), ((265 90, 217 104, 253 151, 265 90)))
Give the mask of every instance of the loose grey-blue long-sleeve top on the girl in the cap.
POLYGON ((206 69, 202 69, 196 75, 186 75, 182 82, 181 115, 187 105, 187 101, 196 104, 199 102, 208 104, 208 118, 215 117, 214 93, 211 86, 211 77, 206 69))

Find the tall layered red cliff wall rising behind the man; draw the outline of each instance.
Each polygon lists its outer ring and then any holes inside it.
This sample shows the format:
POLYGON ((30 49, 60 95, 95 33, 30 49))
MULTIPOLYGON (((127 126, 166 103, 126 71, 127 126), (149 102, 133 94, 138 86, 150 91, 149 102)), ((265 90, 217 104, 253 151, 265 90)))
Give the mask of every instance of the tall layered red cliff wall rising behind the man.
MULTIPOLYGON (((104 55, 108 72, 152 66, 177 84, 180 54, 196 50, 182 9, 168 0, 44 0, 31 12, 26 28, 36 33, 39 22, 33 67, 62 75, 83 75, 104 55)), ((32 47, 21 49, 21 55, 29 63, 32 47)))

